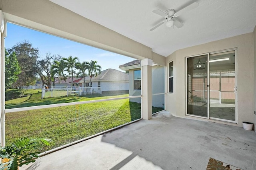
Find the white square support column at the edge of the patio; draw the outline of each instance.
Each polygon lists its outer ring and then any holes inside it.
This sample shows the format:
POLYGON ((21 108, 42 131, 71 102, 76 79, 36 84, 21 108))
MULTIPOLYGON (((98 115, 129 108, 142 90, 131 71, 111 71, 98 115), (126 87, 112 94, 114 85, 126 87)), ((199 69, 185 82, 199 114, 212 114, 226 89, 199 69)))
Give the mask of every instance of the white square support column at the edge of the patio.
POLYGON ((152 118, 152 64, 151 59, 142 60, 142 119, 152 118))

